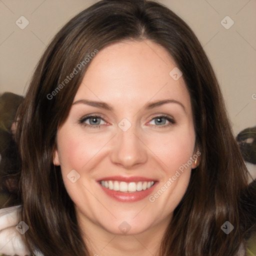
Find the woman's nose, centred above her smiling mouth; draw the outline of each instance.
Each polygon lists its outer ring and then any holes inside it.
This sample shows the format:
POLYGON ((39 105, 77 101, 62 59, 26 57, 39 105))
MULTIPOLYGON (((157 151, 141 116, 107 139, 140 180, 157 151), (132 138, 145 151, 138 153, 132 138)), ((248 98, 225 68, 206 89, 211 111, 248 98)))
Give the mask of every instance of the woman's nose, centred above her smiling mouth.
POLYGON ((110 159, 114 164, 131 169, 134 165, 140 165, 147 161, 147 147, 131 126, 128 130, 117 130, 112 141, 110 159))

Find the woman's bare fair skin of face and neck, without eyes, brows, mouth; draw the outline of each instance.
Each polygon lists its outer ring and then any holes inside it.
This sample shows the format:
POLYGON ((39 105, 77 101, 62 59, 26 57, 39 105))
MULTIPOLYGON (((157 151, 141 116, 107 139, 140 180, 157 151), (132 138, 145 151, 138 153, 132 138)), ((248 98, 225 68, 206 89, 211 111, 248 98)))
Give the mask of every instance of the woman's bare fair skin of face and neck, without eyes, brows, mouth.
POLYGON ((190 97, 182 76, 175 81, 169 75, 175 66, 167 51, 150 40, 128 40, 105 47, 90 61, 73 102, 99 100, 113 110, 73 104, 57 131, 54 164, 61 166, 91 255, 159 253, 160 240, 186 191, 195 163, 154 202, 148 196, 137 202, 118 202, 106 195, 96 180, 112 175, 150 177, 159 182, 154 194, 195 154, 190 97), (184 109, 173 102, 143 108, 162 99, 179 101, 184 109), (103 119, 96 119, 99 128, 89 127, 89 119, 84 121, 87 126, 79 123, 87 114, 101 114, 103 119), (151 120, 161 114, 173 118, 175 124, 164 118, 158 125, 156 119, 151 120), (127 131, 118 127, 123 118, 131 124, 127 131), (80 175, 74 183, 67 178, 72 169, 80 175), (131 226, 127 233, 118 228, 123 221, 131 226))

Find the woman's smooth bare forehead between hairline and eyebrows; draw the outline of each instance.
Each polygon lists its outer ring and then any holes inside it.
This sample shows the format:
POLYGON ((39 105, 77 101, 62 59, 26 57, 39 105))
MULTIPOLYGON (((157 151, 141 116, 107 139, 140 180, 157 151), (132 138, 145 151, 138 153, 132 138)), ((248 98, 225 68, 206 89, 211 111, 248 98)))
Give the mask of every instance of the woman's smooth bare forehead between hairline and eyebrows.
POLYGON ((86 98, 134 106, 173 98, 189 110, 190 98, 182 76, 174 80, 169 74, 175 67, 167 50, 150 40, 108 45, 90 60, 74 101, 86 98))

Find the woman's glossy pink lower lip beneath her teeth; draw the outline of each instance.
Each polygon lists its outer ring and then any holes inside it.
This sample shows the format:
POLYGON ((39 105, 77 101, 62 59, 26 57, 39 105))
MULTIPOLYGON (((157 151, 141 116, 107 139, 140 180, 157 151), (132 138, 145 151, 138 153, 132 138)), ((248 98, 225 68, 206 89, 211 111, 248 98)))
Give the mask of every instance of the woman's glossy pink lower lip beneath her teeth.
POLYGON ((154 184, 150 188, 147 188, 147 189, 141 190, 141 191, 136 191, 136 192, 115 191, 113 189, 108 189, 108 188, 102 186, 99 182, 97 182, 97 183, 101 186, 101 188, 107 195, 111 196, 112 198, 114 198, 117 201, 136 202, 136 201, 140 201, 140 200, 144 199, 146 196, 148 196, 150 193, 152 193, 157 182, 155 181, 154 184))

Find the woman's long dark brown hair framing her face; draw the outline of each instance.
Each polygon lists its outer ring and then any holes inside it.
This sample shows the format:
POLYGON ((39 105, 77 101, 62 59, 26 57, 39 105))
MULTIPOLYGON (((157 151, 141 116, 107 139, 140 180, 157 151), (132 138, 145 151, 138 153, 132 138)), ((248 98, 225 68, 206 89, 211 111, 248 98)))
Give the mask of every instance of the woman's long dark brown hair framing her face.
POLYGON ((36 66, 17 113, 20 219, 29 226, 25 244, 44 256, 89 255, 60 167, 52 163, 56 132, 89 65, 84 59, 129 39, 150 39, 174 58, 190 94, 201 152, 200 164, 166 227, 160 255, 233 256, 247 229, 240 194, 248 173, 218 81, 189 26, 164 5, 146 0, 102 0, 81 11, 55 35, 36 66), (74 68, 78 73, 63 83, 74 68), (227 220, 234 226, 230 234, 220 228, 227 220))

